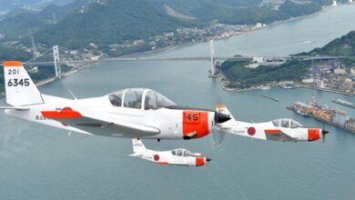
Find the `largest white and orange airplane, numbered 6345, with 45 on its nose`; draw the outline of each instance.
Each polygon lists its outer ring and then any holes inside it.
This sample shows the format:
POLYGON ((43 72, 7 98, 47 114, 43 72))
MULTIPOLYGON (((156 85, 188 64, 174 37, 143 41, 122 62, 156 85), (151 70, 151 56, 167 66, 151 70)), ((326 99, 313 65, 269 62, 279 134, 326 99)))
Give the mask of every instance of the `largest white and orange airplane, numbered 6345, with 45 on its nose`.
MULTIPOLYGON (((197 139, 211 133, 228 115, 179 106, 147 88, 67 99, 41 94, 18 61, 5 61, 5 114, 85 135, 148 139, 197 139)), ((69 91, 70 92, 70 91, 69 91)))

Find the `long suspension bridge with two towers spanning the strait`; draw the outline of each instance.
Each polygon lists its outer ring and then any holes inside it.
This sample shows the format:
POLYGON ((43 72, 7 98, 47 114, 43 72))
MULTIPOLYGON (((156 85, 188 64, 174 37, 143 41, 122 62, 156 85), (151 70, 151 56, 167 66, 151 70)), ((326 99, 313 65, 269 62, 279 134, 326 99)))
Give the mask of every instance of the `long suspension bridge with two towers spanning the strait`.
MULTIPOLYGON (((62 65, 73 66, 73 70, 80 69, 86 65, 94 65, 97 63, 109 63, 109 62, 132 62, 132 61, 209 61, 210 69, 209 76, 216 76, 216 65, 217 61, 253 61, 255 58, 260 58, 264 61, 266 65, 279 65, 286 62, 291 58, 298 58, 304 60, 335 60, 343 59, 345 56, 216 56, 214 41, 211 40, 209 43, 210 55, 209 56, 177 56, 177 57, 132 57, 132 56, 121 56, 121 57, 106 57, 99 58, 87 53, 80 53, 76 50, 71 50, 66 47, 59 45, 53 46, 51 49, 47 49, 44 53, 36 53, 34 58, 24 62, 26 66, 54 66, 56 72, 56 78, 62 78, 63 73, 62 65)), ((256 61, 257 62, 257 61, 256 61)), ((259 62, 259 61, 258 61, 259 62)))

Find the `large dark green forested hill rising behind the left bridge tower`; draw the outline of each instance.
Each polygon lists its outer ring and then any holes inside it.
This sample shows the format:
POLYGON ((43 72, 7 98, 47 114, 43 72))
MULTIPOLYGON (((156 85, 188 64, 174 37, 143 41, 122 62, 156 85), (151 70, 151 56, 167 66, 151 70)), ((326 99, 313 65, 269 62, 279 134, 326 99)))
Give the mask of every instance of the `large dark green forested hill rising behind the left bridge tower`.
POLYGON ((76 10, 57 25, 48 25, 35 37, 42 44, 78 48, 88 43, 122 44, 190 25, 196 24, 169 16, 163 6, 147 1, 102 0, 76 10))

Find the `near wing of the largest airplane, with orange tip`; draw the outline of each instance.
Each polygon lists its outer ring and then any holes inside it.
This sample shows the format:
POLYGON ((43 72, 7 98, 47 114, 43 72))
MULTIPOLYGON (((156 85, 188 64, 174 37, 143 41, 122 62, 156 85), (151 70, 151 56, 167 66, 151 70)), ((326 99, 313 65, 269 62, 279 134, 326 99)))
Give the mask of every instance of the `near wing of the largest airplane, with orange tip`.
POLYGON ((93 135, 139 138, 142 136, 157 135, 160 133, 159 129, 155 127, 107 122, 105 120, 96 119, 92 116, 81 115, 79 112, 71 109, 62 110, 60 112, 42 111, 42 115, 46 118, 56 120, 63 125, 70 125, 93 135))

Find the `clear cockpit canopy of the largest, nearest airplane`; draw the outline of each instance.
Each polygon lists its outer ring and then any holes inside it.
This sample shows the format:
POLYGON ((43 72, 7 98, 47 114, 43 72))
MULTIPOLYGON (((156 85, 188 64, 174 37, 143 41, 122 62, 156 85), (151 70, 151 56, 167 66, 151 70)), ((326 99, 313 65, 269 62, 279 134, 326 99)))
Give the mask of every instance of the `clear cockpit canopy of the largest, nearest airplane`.
POLYGON ((108 95, 112 105, 117 107, 127 107, 145 110, 157 110, 161 107, 176 105, 164 95, 156 91, 144 88, 132 88, 120 90, 108 95))

